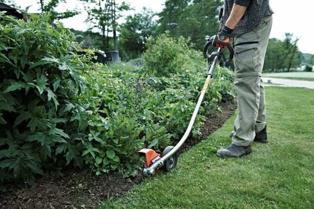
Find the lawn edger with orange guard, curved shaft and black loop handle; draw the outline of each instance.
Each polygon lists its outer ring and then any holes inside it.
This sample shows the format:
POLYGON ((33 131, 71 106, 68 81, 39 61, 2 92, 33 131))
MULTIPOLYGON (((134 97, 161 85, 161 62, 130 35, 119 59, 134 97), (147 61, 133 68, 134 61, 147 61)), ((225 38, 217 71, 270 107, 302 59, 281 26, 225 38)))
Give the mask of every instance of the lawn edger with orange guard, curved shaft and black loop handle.
POLYGON ((203 49, 203 54, 206 59, 213 58, 213 62, 211 66, 209 67, 206 81, 204 84, 204 87, 201 91, 201 95, 198 99, 198 102, 196 104, 196 107, 193 111, 191 120, 188 124, 188 127, 183 134, 183 137, 181 140, 178 142, 176 146, 167 146, 163 152, 161 153, 160 151, 155 151, 153 149, 148 149, 144 148, 140 151, 137 152, 137 155, 140 157, 145 156, 146 161, 144 163, 144 166, 142 168, 142 174, 143 176, 152 176, 156 174, 158 171, 163 170, 164 172, 170 172, 177 164, 178 161, 178 153, 177 151, 180 149, 180 147, 183 145, 185 142, 186 138, 188 137, 190 131, 192 130, 195 118, 198 114, 199 108, 203 102, 204 95, 208 89, 209 86, 209 81, 213 75, 214 69, 216 67, 217 62, 220 60, 220 58, 223 59, 225 63, 231 62, 234 56, 234 50, 230 44, 228 44, 228 50, 230 52, 229 58, 226 59, 225 55, 223 53, 223 49, 218 48, 217 52, 212 52, 211 54, 208 54, 208 48, 209 46, 212 45, 212 40, 213 37, 211 37, 208 42, 205 44, 204 49, 203 49))

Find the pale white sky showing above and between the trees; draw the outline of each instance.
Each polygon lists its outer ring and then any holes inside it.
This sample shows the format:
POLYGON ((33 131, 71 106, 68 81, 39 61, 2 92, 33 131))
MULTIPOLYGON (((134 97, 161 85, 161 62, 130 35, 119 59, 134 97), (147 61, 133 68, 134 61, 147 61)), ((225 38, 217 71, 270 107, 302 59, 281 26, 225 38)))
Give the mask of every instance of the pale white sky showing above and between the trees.
MULTIPOLYGON (((39 0, 15 0, 17 5, 23 8, 31 5, 29 12, 37 12, 39 0)), ((160 12, 164 7, 165 0, 117 0, 117 2, 126 1, 135 8, 135 13, 139 13, 145 6, 151 8, 153 11, 160 12)), ((67 0, 66 5, 60 6, 58 9, 63 8, 73 9, 81 8, 83 11, 82 3, 78 0, 67 0)), ((314 20, 314 1, 312 0, 269 0, 269 4, 274 11, 273 25, 270 33, 270 38, 277 38, 279 40, 285 39, 285 33, 292 33, 293 39, 300 38, 297 46, 303 53, 314 54, 314 41, 312 33, 312 22, 314 20)), ((74 16, 67 20, 63 20, 65 27, 74 28, 77 30, 86 30, 87 24, 84 13, 74 16)), ((209 34, 210 35, 210 34, 209 34)))

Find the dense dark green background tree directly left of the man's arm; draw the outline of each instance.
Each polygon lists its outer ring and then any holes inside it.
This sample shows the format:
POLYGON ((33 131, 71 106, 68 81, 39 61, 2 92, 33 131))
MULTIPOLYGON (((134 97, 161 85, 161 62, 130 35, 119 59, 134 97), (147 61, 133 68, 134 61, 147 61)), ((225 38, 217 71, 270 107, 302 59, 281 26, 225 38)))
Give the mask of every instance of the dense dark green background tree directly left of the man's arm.
POLYGON ((205 44, 206 35, 214 35, 219 28, 218 8, 222 0, 166 0, 158 15, 158 34, 169 31, 170 36, 191 39, 198 50, 205 44))

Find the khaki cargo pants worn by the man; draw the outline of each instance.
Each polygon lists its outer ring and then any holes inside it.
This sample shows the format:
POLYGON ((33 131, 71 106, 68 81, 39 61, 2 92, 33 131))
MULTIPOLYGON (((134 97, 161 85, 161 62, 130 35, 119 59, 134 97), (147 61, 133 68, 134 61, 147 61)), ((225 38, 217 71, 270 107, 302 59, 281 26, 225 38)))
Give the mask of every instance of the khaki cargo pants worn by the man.
POLYGON ((265 92, 261 77, 271 26, 272 16, 265 16, 257 28, 234 38, 238 114, 232 143, 236 146, 250 145, 255 131, 262 131, 266 126, 265 92))

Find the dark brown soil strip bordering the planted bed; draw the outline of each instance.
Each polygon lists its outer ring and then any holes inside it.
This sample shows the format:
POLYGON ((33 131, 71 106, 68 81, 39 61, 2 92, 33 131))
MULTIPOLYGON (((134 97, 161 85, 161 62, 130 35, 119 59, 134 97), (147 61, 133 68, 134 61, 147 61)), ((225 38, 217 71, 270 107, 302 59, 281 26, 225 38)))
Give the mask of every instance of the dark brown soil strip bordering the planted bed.
MULTIPOLYGON (((179 155, 195 144, 207 139, 229 119, 236 109, 236 102, 221 103, 222 113, 213 111, 201 127, 198 138, 187 139, 179 149, 179 155)), ((141 183, 143 177, 123 178, 119 173, 96 176, 85 169, 68 169, 62 178, 42 176, 36 185, 26 190, 6 185, 7 191, 0 193, 0 209, 78 209, 99 208, 108 198, 119 198, 133 185, 141 183)))

